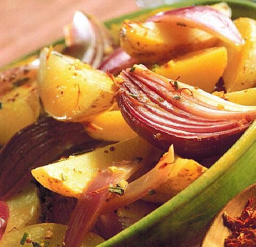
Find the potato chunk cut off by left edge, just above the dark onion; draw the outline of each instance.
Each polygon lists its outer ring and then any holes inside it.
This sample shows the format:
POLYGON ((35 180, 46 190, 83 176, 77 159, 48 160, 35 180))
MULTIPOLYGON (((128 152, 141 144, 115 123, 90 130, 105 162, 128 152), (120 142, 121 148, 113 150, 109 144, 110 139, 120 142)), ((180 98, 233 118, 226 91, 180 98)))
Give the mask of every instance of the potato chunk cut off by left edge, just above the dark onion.
POLYGON ((15 87, 0 96, 0 146, 31 125, 40 114, 36 81, 15 87))

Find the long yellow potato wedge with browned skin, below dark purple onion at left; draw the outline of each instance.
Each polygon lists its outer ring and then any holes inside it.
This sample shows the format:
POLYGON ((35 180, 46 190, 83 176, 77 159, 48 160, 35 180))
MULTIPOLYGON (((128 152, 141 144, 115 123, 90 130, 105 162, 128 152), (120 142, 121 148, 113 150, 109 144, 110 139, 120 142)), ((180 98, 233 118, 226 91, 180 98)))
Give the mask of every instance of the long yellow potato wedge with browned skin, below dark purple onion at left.
POLYGON ((93 152, 71 156, 67 160, 48 164, 32 170, 32 175, 44 187, 63 196, 79 198, 86 184, 100 169, 112 162, 143 158, 147 166, 158 160, 161 151, 142 138, 134 138, 117 144, 96 149, 93 152))

